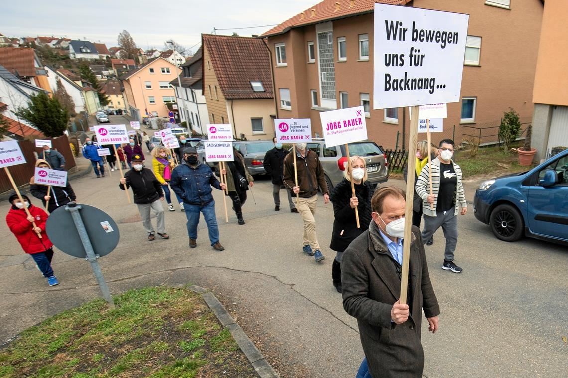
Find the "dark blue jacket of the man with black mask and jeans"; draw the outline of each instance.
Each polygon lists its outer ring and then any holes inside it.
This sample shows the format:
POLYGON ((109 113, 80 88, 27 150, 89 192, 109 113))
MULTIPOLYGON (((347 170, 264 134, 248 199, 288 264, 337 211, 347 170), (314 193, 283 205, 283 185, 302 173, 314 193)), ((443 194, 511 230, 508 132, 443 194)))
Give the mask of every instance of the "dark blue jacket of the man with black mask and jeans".
POLYGON ((190 205, 206 205, 213 201, 211 186, 221 190, 221 183, 206 164, 191 167, 186 162, 172 172, 170 186, 183 202, 190 205))

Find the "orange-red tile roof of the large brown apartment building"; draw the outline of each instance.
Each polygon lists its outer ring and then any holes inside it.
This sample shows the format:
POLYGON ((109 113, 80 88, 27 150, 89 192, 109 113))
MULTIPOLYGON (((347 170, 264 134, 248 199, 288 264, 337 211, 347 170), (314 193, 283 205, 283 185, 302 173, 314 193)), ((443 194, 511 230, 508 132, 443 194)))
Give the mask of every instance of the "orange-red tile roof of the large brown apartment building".
POLYGON ((291 28, 317 24, 333 19, 340 19, 357 14, 373 12, 375 3, 406 5, 411 0, 324 0, 319 4, 295 15, 293 18, 278 24, 265 32, 261 37, 275 36, 287 32, 291 28), (339 9, 337 6, 339 3, 339 9))

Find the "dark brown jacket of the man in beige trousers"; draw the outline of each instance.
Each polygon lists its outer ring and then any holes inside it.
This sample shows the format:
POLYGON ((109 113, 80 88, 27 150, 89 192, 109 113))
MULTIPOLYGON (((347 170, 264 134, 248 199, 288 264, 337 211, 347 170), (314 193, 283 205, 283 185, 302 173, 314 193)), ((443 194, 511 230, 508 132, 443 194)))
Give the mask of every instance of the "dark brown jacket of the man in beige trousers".
MULTIPOLYGON (((319 161, 318 155, 309 148, 306 148, 306 158, 296 153, 296 165, 298 167, 298 181, 300 187, 300 197, 311 198, 318 194, 318 184, 323 194, 329 195, 327 182, 323 173, 323 167, 319 161)), ((292 196, 294 194, 295 174, 294 174, 294 154, 286 155, 284 159, 284 185, 290 190, 292 196)))

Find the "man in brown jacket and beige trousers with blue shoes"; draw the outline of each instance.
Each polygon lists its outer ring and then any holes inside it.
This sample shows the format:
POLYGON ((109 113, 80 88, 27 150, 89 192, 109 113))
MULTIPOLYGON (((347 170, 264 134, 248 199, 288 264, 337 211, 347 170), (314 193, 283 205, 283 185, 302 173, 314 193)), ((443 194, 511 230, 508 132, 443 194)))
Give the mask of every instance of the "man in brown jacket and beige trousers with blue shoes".
POLYGON ((296 207, 304 221, 303 252, 308 256, 314 256, 316 262, 320 262, 325 257, 321 253, 318 235, 316 235, 314 214, 318 202, 318 185, 323 193, 325 205, 329 202, 329 189, 318 154, 307 148, 306 143, 296 145, 296 167, 298 169, 297 184, 294 173, 294 155, 288 154, 284 159, 284 185, 290 190, 292 196, 296 197, 299 193, 296 207))

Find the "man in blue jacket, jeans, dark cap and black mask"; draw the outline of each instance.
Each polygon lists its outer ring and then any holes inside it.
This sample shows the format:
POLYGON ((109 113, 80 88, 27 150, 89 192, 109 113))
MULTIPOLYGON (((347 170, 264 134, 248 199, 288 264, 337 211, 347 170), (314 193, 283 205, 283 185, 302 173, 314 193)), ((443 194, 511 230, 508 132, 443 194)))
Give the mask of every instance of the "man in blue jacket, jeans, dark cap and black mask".
POLYGON ((170 186, 183 199, 189 247, 197 247, 197 225, 199 216, 203 213, 211 247, 218 251, 224 250, 225 248, 219 243, 219 226, 215 218, 215 200, 211 194, 211 186, 225 190, 227 185, 217 180, 207 164, 199 162, 195 148, 187 147, 183 150, 183 164, 174 168, 170 186))

